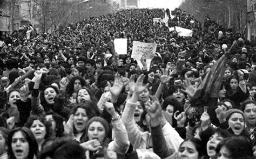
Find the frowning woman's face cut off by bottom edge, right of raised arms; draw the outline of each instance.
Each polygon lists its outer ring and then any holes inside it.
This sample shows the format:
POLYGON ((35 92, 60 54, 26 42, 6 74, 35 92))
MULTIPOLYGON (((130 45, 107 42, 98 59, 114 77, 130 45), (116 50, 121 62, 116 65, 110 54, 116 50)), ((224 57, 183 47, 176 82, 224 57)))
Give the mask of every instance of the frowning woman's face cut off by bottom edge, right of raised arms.
POLYGON ((199 154, 196 149, 196 146, 191 141, 185 141, 180 145, 178 151, 178 159, 187 158, 187 159, 198 159, 199 154))

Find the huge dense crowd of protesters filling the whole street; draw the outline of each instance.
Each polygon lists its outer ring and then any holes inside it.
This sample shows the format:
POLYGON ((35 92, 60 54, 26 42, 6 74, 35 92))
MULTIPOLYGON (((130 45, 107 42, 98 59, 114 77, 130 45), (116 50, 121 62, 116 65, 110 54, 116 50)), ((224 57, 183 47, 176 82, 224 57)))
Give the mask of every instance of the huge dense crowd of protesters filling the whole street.
POLYGON ((22 26, 0 51, 0 158, 256 157, 256 48, 209 17, 132 9, 51 34, 22 26), (131 58, 133 41, 157 44, 150 66, 131 58), (192 105, 222 56, 215 104, 192 105))

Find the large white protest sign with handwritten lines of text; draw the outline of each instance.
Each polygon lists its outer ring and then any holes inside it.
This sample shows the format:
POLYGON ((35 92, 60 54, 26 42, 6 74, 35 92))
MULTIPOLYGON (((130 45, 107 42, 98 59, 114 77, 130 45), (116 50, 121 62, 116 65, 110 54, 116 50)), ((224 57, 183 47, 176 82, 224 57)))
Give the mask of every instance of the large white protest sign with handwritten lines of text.
POLYGON ((131 57, 138 60, 142 57, 143 59, 153 59, 156 50, 157 44, 133 41, 131 57))

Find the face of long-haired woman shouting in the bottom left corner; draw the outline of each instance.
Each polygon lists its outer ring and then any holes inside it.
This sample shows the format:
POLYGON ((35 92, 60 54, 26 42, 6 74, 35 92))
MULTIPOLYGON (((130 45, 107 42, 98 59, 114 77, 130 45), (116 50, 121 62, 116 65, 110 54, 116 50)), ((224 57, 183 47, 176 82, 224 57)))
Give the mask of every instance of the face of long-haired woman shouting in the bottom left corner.
POLYGON ((16 158, 27 158, 29 156, 29 142, 21 131, 14 133, 12 136, 11 150, 16 158))

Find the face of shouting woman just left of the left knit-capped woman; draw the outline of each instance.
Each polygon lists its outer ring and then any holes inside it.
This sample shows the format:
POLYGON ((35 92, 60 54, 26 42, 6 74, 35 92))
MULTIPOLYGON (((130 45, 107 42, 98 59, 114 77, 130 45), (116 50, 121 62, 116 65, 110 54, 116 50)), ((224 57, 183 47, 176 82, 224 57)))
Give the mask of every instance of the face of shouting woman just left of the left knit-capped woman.
POLYGON ((88 121, 88 117, 87 117, 86 110, 79 107, 76 113, 74 114, 74 126, 78 133, 81 133, 84 131, 87 121, 88 121))

